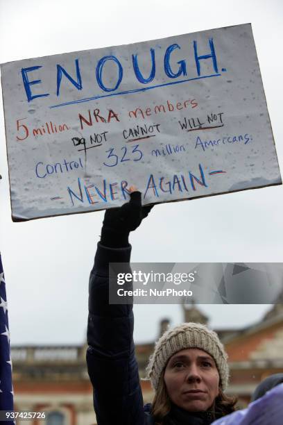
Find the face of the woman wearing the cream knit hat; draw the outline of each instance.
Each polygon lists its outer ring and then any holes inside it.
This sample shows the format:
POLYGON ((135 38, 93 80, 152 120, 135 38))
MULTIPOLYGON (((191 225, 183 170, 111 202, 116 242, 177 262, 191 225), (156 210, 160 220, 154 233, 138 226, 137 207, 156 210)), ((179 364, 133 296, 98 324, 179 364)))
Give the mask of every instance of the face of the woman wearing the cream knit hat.
POLYGON ((208 410, 219 392, 214 359, 200 349, 175 353, 166 365, 164 382, 171 401, 189 412, 208 410))

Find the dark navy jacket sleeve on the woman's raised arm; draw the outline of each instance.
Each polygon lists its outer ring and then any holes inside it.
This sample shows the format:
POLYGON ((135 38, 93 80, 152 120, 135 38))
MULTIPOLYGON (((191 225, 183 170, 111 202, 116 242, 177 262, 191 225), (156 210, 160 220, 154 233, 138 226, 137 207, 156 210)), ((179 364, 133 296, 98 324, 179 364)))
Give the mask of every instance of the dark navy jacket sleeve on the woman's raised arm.
MULTIPOLYGON (((131 247, 98 244, 89 278, 87 369, 98 425, 144 425, 132 305, 110 305, 109 263, 129 263, 131 247)), ((126 266, 130 271, 130 265, 126 266)))

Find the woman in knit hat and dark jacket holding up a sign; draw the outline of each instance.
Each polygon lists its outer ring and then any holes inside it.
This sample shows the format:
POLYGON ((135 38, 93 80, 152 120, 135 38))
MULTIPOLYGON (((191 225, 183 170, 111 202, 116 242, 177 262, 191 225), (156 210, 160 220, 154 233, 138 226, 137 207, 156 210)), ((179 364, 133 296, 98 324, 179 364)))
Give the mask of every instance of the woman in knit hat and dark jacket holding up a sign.
POLYGON ((97 424, 211 424, 232 412, 235 401, 223 394, 229 376, 223 345, 201 324, 177 326, 157 342, 147 369, 155 399, 143 406, 132 305, 108 302, 109 263, 123 263, 123 272, 130 272, 129 233, 151 210, 141 206, 140 192, 133 187, 130 192, 128 203, 105 212, 89 279, 87 367, 97 424))

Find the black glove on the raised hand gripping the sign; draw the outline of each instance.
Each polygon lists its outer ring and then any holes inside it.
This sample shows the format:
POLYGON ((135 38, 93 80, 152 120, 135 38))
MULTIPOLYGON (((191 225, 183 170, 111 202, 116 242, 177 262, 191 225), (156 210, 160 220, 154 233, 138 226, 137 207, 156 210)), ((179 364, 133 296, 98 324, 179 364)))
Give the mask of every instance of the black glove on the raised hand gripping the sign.
POLYGON ((141 206, 141 192, 132 192, 130 201, 119 208, 105 211, 101 229, 101 244, 110 248, 127 247, 129 233, 147 217, 153 206, 141 206))

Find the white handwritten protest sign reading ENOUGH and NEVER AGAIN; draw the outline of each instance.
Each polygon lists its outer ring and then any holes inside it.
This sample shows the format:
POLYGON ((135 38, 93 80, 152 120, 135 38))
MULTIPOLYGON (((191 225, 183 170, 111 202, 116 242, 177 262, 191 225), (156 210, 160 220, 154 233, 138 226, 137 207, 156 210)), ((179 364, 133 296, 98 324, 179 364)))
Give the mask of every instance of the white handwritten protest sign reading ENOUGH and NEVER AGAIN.
POLYGON ((15 221, 281 184, 250 24, 1 65, 15 221))

